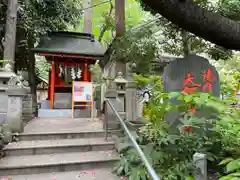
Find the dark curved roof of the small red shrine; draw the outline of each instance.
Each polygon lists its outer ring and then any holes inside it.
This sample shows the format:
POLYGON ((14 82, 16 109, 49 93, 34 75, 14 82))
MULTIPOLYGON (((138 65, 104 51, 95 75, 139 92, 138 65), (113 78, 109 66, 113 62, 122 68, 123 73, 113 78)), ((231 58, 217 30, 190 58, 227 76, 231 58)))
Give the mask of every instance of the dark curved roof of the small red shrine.
POLYGON ((92 34, 76 32, 52 32, 42 37, 32 49, 36 53, 69 54, 103 57, 105 50, 92 34))

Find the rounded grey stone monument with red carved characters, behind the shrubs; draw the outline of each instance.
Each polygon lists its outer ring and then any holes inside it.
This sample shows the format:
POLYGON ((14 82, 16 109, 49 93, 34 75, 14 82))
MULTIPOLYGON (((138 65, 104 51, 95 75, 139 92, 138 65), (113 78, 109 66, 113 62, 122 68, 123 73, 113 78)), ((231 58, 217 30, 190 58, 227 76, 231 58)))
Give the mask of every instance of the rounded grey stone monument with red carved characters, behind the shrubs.
MULTIPOLYGON (((188 55, 185 58, 177 58, 164 68, 163 73, 164 92, 211 92, 220 97, 219 75, 215 67, 203 57, 188 55)), ((178 103, 172 99, 173 103, 178 103)), ((171 127, 179 124, 179 113, 169 112, 165 120, 171 127)))

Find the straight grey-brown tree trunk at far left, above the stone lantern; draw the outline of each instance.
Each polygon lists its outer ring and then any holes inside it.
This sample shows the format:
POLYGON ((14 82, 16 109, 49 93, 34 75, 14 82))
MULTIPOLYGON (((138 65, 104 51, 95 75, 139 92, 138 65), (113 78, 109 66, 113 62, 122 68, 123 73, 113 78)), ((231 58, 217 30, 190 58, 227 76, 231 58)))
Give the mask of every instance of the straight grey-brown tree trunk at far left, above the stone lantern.
MULTIPOLYGON (((16 47, 16 25, 17 25, 17 0, 8 0, 6 30, 3 42, 4 53, 3 59, 8 60, 12 70, 14 70, 15 47, 16 47)), ((7 63, 3 63, 6 65, 7 63)))

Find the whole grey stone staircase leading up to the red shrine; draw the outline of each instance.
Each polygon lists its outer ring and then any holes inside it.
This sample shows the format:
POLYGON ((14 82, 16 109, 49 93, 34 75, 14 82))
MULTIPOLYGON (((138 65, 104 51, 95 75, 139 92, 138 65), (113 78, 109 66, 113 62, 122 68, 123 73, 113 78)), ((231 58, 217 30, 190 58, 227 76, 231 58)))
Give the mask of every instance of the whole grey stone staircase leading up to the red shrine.
POLYGON ((20 141, 4 148, 6 156, 0 160, 2 179, 120 179, 111 173, 119 160, 114 141, 104 140, 99 120, 38 119, 30 123, 20 134, 20 141))

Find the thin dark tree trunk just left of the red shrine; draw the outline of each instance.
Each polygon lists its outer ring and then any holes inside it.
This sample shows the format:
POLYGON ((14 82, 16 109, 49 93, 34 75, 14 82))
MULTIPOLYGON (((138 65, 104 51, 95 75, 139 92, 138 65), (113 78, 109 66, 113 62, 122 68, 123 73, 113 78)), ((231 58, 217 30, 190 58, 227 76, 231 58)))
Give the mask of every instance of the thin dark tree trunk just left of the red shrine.
POLYGON ((28 33, 27 37, 28 43, 28 77, 31 87, 31 94, 32 94, 32 107, 33 107, 33 114, 37 116, 37 84, 36 84, 36 71, 35 71, 35 64, 36 59, 34 52, 30 49, 34 48, 34 39, 32 32, 28 33))

